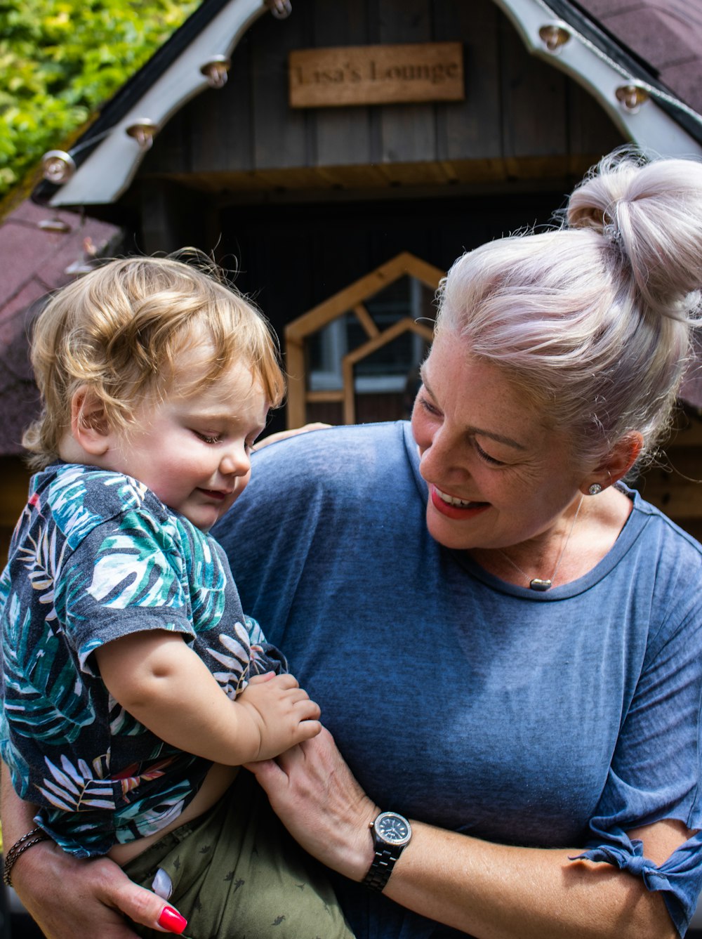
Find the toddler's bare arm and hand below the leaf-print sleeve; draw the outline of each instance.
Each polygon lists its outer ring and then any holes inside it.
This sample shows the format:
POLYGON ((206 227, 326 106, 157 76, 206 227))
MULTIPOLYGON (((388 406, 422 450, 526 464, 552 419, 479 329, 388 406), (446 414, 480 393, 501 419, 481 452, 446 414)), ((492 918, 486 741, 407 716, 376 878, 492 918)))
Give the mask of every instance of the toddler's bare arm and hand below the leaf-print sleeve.
POLYGON ((161 740, 213 762, 266 760, 319 733, 319 707, 292 675, 227 698, 177 633, 149 630, 95 651, 114 699, 161 740))

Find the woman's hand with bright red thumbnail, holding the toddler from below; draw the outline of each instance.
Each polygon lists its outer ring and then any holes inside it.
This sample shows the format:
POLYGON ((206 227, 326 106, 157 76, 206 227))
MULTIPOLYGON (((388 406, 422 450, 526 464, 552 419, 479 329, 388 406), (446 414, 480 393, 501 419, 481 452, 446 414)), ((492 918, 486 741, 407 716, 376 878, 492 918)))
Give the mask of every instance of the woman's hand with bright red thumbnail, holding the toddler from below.
POLYGON ((133 884, 112 861, 81 861, 52 841, 17 859, 12 885, 47 939, 136 939, 122 914, 164 934, 186 927, 172 906, 133 884))

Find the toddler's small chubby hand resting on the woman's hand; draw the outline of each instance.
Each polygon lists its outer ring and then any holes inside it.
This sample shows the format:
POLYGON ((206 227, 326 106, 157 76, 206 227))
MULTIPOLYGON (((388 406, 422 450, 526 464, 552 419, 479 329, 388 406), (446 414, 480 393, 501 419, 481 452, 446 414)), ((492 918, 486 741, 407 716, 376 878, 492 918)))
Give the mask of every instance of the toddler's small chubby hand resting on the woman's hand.
POLYGON ((256 761, 277 757, 322 730, 319 705, 310 700, 292 675, 269 673, 252 678, 238 696, 237 705, 249 711, 258 729, 260 747, 256 761))

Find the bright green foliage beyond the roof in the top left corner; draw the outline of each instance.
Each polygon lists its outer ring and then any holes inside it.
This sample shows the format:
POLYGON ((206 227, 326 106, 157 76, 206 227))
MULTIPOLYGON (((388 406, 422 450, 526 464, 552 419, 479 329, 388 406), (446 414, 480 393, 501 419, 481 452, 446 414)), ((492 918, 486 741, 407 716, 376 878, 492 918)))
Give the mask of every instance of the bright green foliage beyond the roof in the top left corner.
POLYGON ((0 0, 0 197, 62 148, 200 0, 0 0))

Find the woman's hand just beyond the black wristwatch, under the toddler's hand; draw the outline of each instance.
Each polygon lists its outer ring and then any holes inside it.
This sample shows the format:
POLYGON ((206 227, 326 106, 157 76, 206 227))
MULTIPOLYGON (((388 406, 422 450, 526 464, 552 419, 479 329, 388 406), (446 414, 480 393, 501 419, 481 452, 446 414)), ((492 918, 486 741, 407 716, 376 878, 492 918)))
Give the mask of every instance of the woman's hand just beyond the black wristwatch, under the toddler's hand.
POLYGON ((373 861, 369 825, 379 809, 363 792, 326 729, 275 760, 247 764, 273 810, 305 851, 351 880, 373 861))

